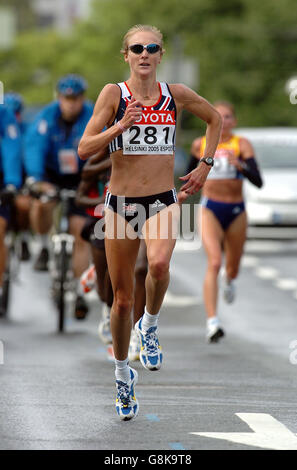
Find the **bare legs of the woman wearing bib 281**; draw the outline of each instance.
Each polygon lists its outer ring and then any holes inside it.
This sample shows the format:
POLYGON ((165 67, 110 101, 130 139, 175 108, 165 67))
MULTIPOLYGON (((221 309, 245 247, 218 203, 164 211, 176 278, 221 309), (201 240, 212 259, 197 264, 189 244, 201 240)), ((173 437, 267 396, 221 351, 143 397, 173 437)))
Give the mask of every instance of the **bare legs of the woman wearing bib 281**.
MULTIPOLYGON (((106 256, 113 286, 114 302, 111 311, 111 332, 116 359, 128 356, 131 331, 131 310, 134 302, 134 271, 140 241, 138 238, 115 239, 111 226, 123 223, 120 216, 106 210, 106 256)), ((172 204, 148 219, 143 227, 147 247, 148 274, 146 277, 146 307, 151 315, 161 308, 169 283, 169 262, 176 241, 179 207, 172 204), (168 223, 169 222, 169 223, 168 223), (175 236, 175 237, 174 237, 175 236)), ((127 223, 125 222, 127 226, 127 223)), ((127 231, 133 230, 128 225, 127 231)))

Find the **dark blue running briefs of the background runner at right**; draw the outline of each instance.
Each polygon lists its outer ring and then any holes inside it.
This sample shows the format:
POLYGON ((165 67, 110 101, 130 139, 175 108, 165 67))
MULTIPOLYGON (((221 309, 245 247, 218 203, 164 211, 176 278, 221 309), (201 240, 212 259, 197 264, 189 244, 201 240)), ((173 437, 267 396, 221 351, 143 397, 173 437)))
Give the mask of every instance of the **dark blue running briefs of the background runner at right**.
POLYGON ((210 209, 214 213, 224 232, 228 229, 233 220, 245 211, 243 201, 234 204, 233 202, 214 201, 213 199, 208 199, 203 196, 200 203, 203 207, 210 209))

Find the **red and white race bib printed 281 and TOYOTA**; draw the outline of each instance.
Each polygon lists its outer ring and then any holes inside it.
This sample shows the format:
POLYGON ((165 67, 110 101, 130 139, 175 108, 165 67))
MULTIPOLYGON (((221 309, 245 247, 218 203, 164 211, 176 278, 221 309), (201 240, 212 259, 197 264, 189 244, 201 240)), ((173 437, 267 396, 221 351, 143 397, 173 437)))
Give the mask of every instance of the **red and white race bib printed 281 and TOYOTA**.
POLYGON ((174 111, 143 110, 142 117, 123 132, 124 155, 172 155, 175 149, 174 111))

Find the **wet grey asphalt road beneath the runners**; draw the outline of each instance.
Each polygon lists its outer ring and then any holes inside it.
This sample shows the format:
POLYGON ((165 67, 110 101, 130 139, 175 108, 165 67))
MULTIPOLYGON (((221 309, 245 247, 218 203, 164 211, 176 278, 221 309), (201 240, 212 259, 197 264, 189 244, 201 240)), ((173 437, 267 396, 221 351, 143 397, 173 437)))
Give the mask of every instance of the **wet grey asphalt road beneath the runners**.
POLYGON ((48 276, 23 263, 0 322, 0 449, 297 449, 296 255, 296 243, 247 243, 237 299, 219 301, 226 337, 209 345, 205 257, 178 243, 159 323, 164 364, 134 363, 140 411, 130 422, 115 413, 99 301, 89 295, 87 321, 69 318, 59 335, 48 276))

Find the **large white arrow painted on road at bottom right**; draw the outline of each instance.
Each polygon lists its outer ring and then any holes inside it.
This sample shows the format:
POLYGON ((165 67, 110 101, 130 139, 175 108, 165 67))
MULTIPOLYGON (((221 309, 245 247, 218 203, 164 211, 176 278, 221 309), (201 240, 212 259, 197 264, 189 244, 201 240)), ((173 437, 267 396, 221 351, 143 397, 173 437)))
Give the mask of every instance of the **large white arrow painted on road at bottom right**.
POLYGON ((236 413, 252 432, 192 432, 197 436, 223 439, 237 444, 274 450, 297 450, 297 437, 271 415, 266 413, 236 413))

